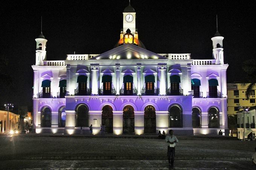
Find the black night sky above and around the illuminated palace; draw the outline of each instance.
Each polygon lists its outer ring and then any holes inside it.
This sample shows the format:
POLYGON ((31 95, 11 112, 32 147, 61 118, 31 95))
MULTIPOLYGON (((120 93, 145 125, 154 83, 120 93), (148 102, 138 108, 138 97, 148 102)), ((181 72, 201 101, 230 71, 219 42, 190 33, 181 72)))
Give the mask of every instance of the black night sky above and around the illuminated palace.
MULTIPOLYGON (((246 81, 241 64, 256 56, 256 1, 131 0, 139 39, 155 53, 191 53, 211 59, 211 37, 224 37, 227 82, 246 81)), ((128 0, 0 1, 0 57, 8 60, 14 86, 0 86, 0 104, 32 106, 35 38, 43 34, 47 60, 66 54, 101 54, 119 40, 128 0)), ((2 80, 0 80, 2 82, 2 80)))

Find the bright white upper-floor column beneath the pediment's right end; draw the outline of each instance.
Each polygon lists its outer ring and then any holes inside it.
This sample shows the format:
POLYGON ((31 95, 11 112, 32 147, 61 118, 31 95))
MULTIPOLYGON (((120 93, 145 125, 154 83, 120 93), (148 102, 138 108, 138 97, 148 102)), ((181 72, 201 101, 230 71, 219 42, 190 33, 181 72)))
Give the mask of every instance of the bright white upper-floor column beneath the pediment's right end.
POLYGON ((166 94, 166 66, 158 66, 159 94, 166 94))

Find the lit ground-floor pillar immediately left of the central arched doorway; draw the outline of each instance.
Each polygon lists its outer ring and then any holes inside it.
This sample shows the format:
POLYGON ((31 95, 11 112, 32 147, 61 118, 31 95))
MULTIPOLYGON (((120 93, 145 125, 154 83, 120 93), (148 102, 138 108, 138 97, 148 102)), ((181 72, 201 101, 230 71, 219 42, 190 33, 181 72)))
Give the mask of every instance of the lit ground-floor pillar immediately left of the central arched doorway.
POLYGON ((123 133, 123 111, 113 111, 113 133, 123 133))

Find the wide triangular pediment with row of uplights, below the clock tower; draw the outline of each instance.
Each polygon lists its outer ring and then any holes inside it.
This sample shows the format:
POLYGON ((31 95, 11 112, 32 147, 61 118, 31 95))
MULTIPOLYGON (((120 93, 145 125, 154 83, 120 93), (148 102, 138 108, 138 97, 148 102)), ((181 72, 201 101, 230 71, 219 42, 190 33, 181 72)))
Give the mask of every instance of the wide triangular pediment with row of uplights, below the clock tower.
POLYGON ((126 43, 120 45, 114 49, 104 52, 96 57, 90 58, 90 60, 148 60, 148 59, 166 59, 162 55, 158 55, 154 52, 148 51, 139 46, 126 43))

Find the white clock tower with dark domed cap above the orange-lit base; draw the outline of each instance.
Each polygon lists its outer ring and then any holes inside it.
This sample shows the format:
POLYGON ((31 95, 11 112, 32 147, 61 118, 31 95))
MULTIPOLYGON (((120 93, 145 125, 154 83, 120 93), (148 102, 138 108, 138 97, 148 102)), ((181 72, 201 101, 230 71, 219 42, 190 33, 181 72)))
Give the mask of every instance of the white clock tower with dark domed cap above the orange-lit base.
POLYGON ((130 4, 123 10, 123 32, 125 33, 127 29, 131 30, 131 33, 136 32, 136 12, 130 4))

